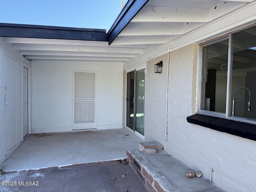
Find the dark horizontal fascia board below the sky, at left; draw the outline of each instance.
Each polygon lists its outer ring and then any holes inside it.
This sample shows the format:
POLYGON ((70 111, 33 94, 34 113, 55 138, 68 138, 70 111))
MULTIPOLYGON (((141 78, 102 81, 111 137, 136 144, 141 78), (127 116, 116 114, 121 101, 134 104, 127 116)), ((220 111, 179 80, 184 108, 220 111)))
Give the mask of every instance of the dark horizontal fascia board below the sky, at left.
POLYGON ((106 30, 0 23, 0 37, 108 41, 106 30))

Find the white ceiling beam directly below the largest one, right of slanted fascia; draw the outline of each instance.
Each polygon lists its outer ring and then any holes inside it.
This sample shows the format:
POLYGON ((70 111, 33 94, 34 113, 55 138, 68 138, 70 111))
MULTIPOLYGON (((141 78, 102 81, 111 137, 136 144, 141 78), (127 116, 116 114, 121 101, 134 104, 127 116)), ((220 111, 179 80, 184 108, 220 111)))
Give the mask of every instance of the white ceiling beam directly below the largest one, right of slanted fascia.
POLYGON ((183 34, 183 23, 132 22, 118 36, 180 34, 183 34))

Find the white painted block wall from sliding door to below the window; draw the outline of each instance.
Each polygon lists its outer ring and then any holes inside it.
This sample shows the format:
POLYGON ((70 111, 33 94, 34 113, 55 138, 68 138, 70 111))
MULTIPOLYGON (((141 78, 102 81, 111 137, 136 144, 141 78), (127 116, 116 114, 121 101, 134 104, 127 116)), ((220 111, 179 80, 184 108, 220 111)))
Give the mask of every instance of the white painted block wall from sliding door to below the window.
MULTIPOLYGON (((159 87, 153 86, 152 65, 165 55, 147 64, 146 100, 156 103, 159 87), (149 82, 149 83, 148 83, 149 82), (151 86, 148 87, 148 86, 151 86)), ((158 76, 160 78, 160 76, 158 76)), ((164 121, 155 122, 163 105, 154 105, 150 110, 146 102, 145 140, 156 140, 164 144, 164 149, 190 168, 200 170, 212 182, 230 192, 256 191, 256 142, 231 134, 218 132, 202 126, 190 124, 186 117, 196 112, 198 80, 198 45, 190 44, 170 52, 169 89, 168 89, 168 140, 164 138, 164 121), (149 126, 151 125, 152 126, 149 126)), ((156 81, 154 81, 156 82, 156 81)), ((164 82, 162 82, 164 95, 164 82)))

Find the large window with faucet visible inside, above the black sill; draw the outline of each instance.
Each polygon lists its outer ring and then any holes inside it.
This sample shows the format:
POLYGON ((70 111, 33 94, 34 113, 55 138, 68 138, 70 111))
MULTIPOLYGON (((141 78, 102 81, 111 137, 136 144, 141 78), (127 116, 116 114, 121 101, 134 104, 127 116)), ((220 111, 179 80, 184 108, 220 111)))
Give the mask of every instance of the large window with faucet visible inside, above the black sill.
POLYGON ((201 46, 203 114, 256 120, 256 26, 201 46))

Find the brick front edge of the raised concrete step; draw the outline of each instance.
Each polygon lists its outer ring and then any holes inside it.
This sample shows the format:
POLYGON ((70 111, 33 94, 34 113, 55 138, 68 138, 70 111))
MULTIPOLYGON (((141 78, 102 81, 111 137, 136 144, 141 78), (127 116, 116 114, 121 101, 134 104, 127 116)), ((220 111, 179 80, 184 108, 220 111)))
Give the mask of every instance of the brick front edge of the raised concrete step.
POLYGON ((150 192, 180 192, 165 176, 159 174, 139 150, 127 150, 126 154, 130 158, 130 166, 150 192))

